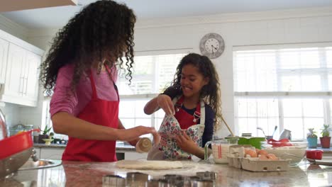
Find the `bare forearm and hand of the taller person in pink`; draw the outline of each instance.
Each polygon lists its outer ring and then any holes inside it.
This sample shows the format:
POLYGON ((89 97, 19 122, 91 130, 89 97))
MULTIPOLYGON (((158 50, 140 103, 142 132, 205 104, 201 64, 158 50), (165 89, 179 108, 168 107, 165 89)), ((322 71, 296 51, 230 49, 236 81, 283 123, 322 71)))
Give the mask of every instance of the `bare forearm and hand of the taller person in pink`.
POLYGON ((89 123, 66 112, 59 112, 52 115, 52 124, 54 132, 70 137, 82 138, 84 140, 132 141, 140 137, 140 135, 148 133, 152 133, 153 137, 159 137, 155 128, 147 128, 144 126, 138 126, 128 130, 109 128, 89 123))

